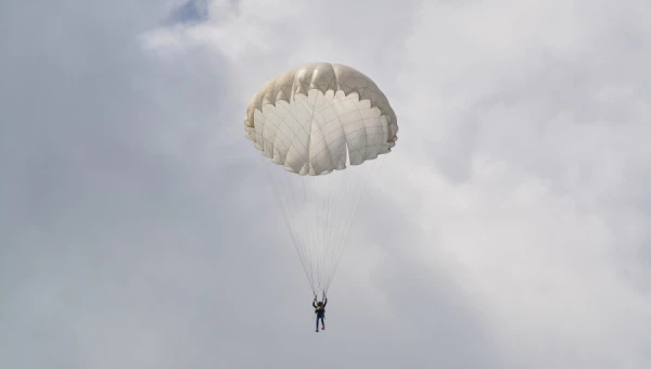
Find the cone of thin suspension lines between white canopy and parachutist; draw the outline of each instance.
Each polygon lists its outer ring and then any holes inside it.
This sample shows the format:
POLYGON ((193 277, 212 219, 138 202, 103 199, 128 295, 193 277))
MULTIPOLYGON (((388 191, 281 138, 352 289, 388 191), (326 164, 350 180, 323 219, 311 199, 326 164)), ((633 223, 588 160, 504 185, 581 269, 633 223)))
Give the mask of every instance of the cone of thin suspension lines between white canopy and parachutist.
POLYGON ((265 167, 314 295, 330 289, 365 194, 384 160, 382 155, 324 176, 296 176, 281 166, 265 167))

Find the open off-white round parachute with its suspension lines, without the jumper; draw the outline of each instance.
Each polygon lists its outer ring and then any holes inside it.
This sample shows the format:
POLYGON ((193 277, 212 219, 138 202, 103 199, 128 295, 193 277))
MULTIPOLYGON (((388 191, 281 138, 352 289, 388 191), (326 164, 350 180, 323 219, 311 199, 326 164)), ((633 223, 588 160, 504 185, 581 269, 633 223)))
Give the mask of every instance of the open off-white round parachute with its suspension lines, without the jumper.
POLYGON ((396 115, 369 77, 315 63, 267 81, 248 103, 244 129, 270 158, 263 166, 279 213, 312 293, 324 294, 367 188, 396 144, 396 115))

